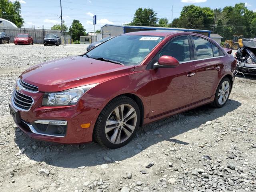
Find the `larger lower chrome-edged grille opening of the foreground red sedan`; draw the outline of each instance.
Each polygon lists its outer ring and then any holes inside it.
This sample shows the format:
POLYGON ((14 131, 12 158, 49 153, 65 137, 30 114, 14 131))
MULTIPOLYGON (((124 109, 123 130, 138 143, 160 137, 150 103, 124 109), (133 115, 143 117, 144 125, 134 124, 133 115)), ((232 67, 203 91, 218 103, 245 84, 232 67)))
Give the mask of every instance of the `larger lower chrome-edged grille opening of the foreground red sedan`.
POLYGON ((33 103, 33 99, 31 97, 19 93, 16 90, 14 90, 12 97, 14 104, 24 110, 29 110, 33 103))

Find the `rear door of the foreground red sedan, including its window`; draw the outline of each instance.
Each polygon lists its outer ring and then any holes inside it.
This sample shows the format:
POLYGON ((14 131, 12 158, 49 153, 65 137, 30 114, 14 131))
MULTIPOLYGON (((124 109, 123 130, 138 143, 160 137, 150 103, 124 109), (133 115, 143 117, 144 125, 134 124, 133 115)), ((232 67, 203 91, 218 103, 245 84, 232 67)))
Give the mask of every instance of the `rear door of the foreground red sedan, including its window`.
POLYGON ((221 56, 224 54, 210 41, 191 36, 196 62, 196 83, 192 102, 200 102, 214 95, 218 74, 223 67, 221 56), (221 54, 222 53, 222 54, 221 54))

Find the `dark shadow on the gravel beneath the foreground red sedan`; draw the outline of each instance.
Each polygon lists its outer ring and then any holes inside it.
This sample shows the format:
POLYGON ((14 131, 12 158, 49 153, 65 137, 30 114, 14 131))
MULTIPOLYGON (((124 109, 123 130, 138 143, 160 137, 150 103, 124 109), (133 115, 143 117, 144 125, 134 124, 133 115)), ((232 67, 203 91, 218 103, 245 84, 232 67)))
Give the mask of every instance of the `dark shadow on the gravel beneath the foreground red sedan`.
POLYGON ((188 142, 174 137, 198 128, 207 121, 220 118, 239 106, 241 106, 240 102, 229 99, 223 108, 205 105, 158 120, 140 128, 130 143, 118 149, 107 149, 94 142, 82 145, 61 145, 38 141, 29 138, 21 130, 16 131, 15 142, 20 149, 25 148, 24 154, 28 158, 37 162, 44 161, 48 165, 62 168, 96 166, 109 163, 104 160, 104 156, 111 158, 112 162, 122 161, 138 153, 144 154, 143 150, 164 140, 188 145, 188 142))

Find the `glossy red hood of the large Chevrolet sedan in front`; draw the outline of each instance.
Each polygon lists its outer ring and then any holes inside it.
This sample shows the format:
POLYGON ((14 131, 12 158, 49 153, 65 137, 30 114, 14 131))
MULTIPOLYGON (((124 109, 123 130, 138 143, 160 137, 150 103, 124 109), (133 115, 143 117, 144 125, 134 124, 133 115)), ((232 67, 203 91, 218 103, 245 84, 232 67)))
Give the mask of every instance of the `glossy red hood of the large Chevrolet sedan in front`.
POLYGON ((131 73, 134 66, 123 66, 82 56, 63 58, 38 64, 24 71, 20 79, 38 86, 41 92, 58 92, 100 83, 131 73))

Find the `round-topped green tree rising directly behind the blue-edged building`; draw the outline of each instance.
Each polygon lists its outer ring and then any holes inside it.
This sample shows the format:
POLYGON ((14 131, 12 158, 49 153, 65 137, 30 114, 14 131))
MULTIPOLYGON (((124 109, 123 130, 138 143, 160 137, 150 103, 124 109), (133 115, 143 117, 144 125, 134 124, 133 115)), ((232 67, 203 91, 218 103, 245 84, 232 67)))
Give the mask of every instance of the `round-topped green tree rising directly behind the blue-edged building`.
POLYGON ((157 25, 157 17, 153 9, 150 8, 138 8, 134 13, 132 22, 128 25, 138 26, 155 26, 157 25))

